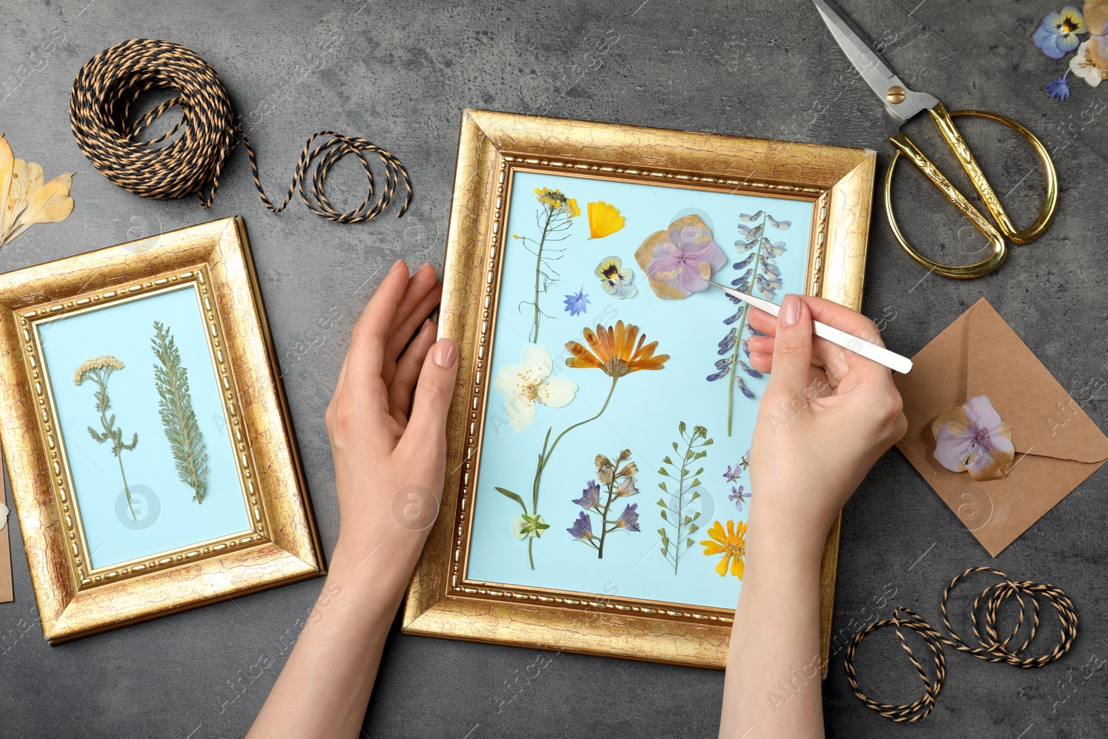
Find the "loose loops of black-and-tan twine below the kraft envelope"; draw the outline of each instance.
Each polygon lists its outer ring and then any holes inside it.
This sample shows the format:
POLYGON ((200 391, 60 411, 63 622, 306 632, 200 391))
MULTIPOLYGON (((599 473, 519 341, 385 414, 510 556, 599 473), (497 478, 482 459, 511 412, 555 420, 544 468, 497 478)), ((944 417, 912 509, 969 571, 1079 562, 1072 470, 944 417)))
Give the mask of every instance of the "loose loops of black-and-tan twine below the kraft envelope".
POLYGON ((923 620, 923 618, 910 608, 904 607, 896 608, 893 612, 892 618, 886 618, 871 624, 865 629, 854 635, 854 638, 851 639, 851 643, 847 646, 847 654, 843 657, 843 666, 847 669, 847 679, 850 681, 850 687, 854 691, 854 695, 858 696, 859 700, 893 721, 919 721, 920 719, 925 718, 935 708, 935 700, 938 698, 938 691, 943 687, 943 679, 946 677, 946 658, 943 655, 943 644, 948 644, 961 651, 968 651, 974 657, 984 659, 985 661, 1007 663, 1009 665, 1015 665, 1016 667, 1032 668, 1049 665, 1054 660, 1061 657, 1064 654, 1069 651, 1069 648, 1074 644, 1074 638, 1077 636, 1077 614, 1074 610, 1074 604, 1065 593, 1053 585, 1040 585, 1029 581, 1018 583, 1010 581, 1007 575, 1002 572, 997 572, 992 567, 972 567, 952 579, 951 584, 946 586, 945 591, 943 591, 941 608, 943 612, 943 625, 950 633, 950 638, 933 629, 927 622, 923 620), (958 581, 977 572, 992 573, 999 577, 1002 582, 986 587, 977 597, 974 598, 973 609, 970 612, 970 617, 973 622, 974 638, 977 639, 977 644, 981 646, 971 647, 962 639, 962 637, 954 633, 954 628, 951 626, 951 622, 946 615, 946 601, 951 595, 951 591, 954 589, 954 586, 957 585, 958 581), (1007 638, 1002 642, 996 633, 997 615, 999 614, 1001 605, 1013 596, 1015 596, 1016 602, 1019 604, 1019 617, 1016 620, 1016 626, 1012 630, 1012 634, 1009 634, 1007 638), (1013 649, 1009 648, 1008 645, 1013 644, 1013 639, 1015 639, 1019 634, 1019 629, 1023 628, 1025 620, 1024 616, 1027 604, 1024 602, 1024 596, 1027 596, 1032 604, 1030 629, 1024 643, 1018 648, 1013 649), (1049 605, 1054 606, 1054 609, 1057 613, 1060 625, 1058 644, 1054 645, 1047 654, 1038 657, 1023 657, 1022 655, 1024 650, 1026 650, 1028 645, 1030 645, 1039 627, 1038 598, 1040 597, 1044 598, 1049 605), (977 624, 977 610, 982 603, 985 605, 985 636, 982 636, 977 624), (896 636, 900 638, 901 646, 904 648, 904 651, 907 653, 909 659, 912 660, 912 665, 915 666, 915 670, 920 675, 920 679, 923 680, 923 697, 914 702, 903 706, 892 706, 872 700, 858 687, 858 676, 854 671, 854 651, 868 634, 885 626, 895 627, 896 636), (907 646, 907 642, 904 639, 904 634, 901 628, 911 629, 923 637, 924 643, 926 643, 927 648, 931 649, 931 655, 934 658, 934 679, 927 677, 923 666, 915 658, 912 649, 907 646))

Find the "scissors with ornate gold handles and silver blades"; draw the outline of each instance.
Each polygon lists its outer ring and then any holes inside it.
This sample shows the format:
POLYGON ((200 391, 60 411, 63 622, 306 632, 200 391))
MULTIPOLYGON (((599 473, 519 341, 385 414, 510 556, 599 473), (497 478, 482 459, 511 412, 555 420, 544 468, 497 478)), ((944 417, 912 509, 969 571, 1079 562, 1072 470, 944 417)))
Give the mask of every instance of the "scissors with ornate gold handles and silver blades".
POLYGON ((881 59, 881 55, 874 50, 862 31, 854 25, 853 21, 838 6, 828 0, 813 0, 813 2, 815 3, 815 9, 820 11, 820 16, 823 17, 823 22, 831 30, 834 40, 847 54, 847 58, 885 105, 885 126, 886 132, 890 134, 889 143, 896 150, 893 153, 892 161, 889 163, 889 171, 885 173, 885 214, 889 216, 889 225, 892 227, 893 236, 904 247, 904 250, 921 265, 940 275, 956 278, 981 277, 1004 264, 1004 259, 1008 256, 1008 247, 1004 240, 1005 237, 1016 244, 1028 244, 1042 236, 1054 218, 1055 209, 1058 205, 1058 174, 1055 172, 1054 162, 1050 160, 1050 154, 1047 152, 1046 146, 1043 145, 1043 142, 1022 124, 1006 115, 988 111, 954 111, 952 113, 935 97, 926 93, 909 90, 901 82, 901 79, 896 76, 896 73, 881 59), (981 199, 985 202, 988 212, 993 214, 993 218, 996 220, 999 229, 995 228, 977 208, 970 204, 965 196, 951 184, 950 179, 938 171, 938 167, 931 163, 911 138, 901 133, 901 126, 909 119, 922 111, 927 111, 931 114, 931 120, 935 122, 938 132, 946 140, 951 151, 954 152, 954 156, 957 157, 962 164, 962 168, 970 176, 970 181, 973 182, 974 188, 981 195, 981 199), (965 140, 954 125, 954 119, 960 115, 973 115, 1003 123, 1020 134, 1035 147, 1035 152, 1039 155, 1039 160, 1042 160, 1043 166, 1046 168, 1046 204, 1043 206, 1043 211, 1039 212, 1035 223, 1027 228, 1023 230, 1017 229, 1008 217, 1008 214, 1005 213, 1004 206, 997 199, 992 185, 988 184, 984 173, 977 165, 977 161, 970 152, 965 140), (973 265, 941 265, 923 256, 907 243, 904 234, 901 233, 900 226, 896 224, 892 203, 893 170, 901 154, 988 239, 993 247, 988 257, 973 265))

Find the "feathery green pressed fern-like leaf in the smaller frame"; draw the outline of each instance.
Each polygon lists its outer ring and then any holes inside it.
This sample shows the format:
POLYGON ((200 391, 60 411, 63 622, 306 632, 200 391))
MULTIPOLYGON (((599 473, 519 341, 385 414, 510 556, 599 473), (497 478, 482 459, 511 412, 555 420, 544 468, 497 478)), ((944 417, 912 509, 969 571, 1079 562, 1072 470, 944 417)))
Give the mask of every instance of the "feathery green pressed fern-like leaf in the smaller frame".
POLYGON ((188 370, 181 365, 181 352, 170 329, 158 321, 154 321, 151 345, 158 362, 154 365, 154 384, 161 397, 157 411, 173 450, 177 475, 193 489, 193 500, 203 503, 207 495, 207 445, 193 412, 188 370))

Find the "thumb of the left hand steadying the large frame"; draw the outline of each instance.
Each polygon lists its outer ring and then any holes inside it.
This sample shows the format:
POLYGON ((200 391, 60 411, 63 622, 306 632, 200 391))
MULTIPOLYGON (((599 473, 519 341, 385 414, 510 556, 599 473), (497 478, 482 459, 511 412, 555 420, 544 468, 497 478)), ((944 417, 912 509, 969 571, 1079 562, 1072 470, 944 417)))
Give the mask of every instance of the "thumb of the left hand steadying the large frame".
POLYGON ((416 397, 408 428, 400 445, 421 464, 441 463, 447 453, 447 412, 458 377, 458 345, 439 339, 427 352, 416 383, 416 397))

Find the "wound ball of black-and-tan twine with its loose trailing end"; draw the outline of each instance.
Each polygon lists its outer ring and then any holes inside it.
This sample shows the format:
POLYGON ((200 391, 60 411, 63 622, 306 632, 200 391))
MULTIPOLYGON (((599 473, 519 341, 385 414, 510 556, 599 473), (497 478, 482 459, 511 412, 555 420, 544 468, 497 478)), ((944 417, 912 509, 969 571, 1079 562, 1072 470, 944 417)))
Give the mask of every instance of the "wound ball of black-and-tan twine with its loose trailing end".
POLYGON ((304 144, 285 202, 274 207, 258 179, 254 147, 242 127, 235 124, 230 100, 219 75, 196 52, 168 41, 132 39, 85 62, 73 81, 70 127, 81 151, 101 174, 142 197, 167 199, 197 193, 201 205, 212 207, 219 174, 237 134, 250 157, 254 186, 273 213, 284 211, 299 188, 304 204, 316 215, 338 223, 361 223, 388 207, 401 181, 406 196, 397 217, 402 216, 411 203, 408 171, 400 160, 365 138, 320 131, 304 144), (132 104, 151 90, 174 90, 178 94, 132 122, 132 104), (177 106, 182 117, 172 131, 150 141, 137 140, 158 116, 177 106), (158 146, 177 131, 183 131, 179 137, 158 146), (319 136, 331 138, 311 148, 319 136), (340 213, 327 199, 324 182, 330 168, 347 154, 361 161, 369 193, 358 208, 340 213), (384 189, 372 206, 375 182, 367 154, 376 154, 384 165, 384 189), (311 175, 309 201, 305 178, 316 157, 320 158, 311 175))

